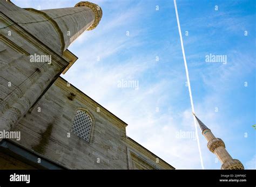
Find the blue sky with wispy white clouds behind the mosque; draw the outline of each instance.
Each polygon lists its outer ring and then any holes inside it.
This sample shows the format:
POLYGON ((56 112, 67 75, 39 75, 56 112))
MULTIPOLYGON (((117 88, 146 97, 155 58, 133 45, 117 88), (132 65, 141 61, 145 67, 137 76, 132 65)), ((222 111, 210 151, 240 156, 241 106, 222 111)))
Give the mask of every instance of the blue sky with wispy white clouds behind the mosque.
MULTIPOLYGON (((78 1, 12 2, 43 10, 78 1)), ((197 141, 177 136, 193 133, 194 124, 173 1, 91 2, 102 8, 102 20, 69 47, 79 59, 63 77, 172 166, 200 169, 197 141), (118 88, 121 80, 138 81, 139 89, 118 88)), ((177 1, 177 7, 196 114, 234 159, 255 169, 255 1, 177 1), (227 63, 206 62, 209 54, 226 55, 227 63)), ((219 169, 200 131, 199 141, 205 168, 219 169)))

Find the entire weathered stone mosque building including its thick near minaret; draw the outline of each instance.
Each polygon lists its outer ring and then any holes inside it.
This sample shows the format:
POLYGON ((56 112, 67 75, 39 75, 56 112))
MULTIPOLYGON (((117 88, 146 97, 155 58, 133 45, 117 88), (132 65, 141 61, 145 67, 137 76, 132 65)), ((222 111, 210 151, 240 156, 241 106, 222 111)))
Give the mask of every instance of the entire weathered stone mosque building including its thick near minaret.
MULTIPOLYGON (((128 138, 124 121, 58 78, 77 59, 66 48, 98 25, 97 5, 38 11, 1 0, 0 8, 0 131, 21 132, 21 140, 10 141, 69 169, 174 169, 128 138), (31 62, 35 54, 51 63, 31 62), (78 110, 92 119, 89 142, 71 132, 78 110)), ((32 169, 4 154, 3 162, 32 169)))

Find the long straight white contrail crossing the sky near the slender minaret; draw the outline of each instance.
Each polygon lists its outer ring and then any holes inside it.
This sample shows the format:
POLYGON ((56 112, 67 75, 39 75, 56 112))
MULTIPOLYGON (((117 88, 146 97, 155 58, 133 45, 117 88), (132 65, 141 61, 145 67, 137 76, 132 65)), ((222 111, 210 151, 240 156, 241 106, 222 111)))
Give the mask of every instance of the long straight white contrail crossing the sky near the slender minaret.
MULTIPOLYGON (((185 64, 185 69, 186 69, 188 92, 190 93, 190 103, 191 103, 192 112, 194 113, 194 104, 193 104, 192 92, 191 92, 191 87, 190 87, 190 77, 188 76, 187 61, 186 61, 186 56, 185 56, 185 51, 184 51, 184 46, 183 46, 183 39, 182 39, 181 31, 180 31, 179 16, 178 16, 176 0, 173 0, 173 2, 174 2, 174 6, 175 6, 176 18, 177 18, 177 23, 178 23, 178 28, 179 28, 181 49, 182 49, 183 59, 184 59, 184 64, 185 64)), ((198 132, 197 132, 196 117, 193 115, 193 118, 194 118, 194 127, 196 128, 197 145, 198 145, 198 150, 199 150, 199 155, 200 155, 201 167, 202 167, 202 169, 204 169, 204 163, 203 163, 203 158, 202 158, 201 148, 200 148, 200 143, 199 143, 199 138, 198 138, 198 132)))

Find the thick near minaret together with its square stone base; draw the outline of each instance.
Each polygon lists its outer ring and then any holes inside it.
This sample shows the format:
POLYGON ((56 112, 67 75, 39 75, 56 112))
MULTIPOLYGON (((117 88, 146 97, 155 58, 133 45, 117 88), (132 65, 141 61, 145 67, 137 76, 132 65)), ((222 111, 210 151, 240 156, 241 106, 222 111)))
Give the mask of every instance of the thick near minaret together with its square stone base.
POLYGON ((0 11, 0 131, 10 131, 72 66, 77 57, 68 47, 96 28, 102 9, 83 1, 71 8, 22 9, 0 0, 0 11))

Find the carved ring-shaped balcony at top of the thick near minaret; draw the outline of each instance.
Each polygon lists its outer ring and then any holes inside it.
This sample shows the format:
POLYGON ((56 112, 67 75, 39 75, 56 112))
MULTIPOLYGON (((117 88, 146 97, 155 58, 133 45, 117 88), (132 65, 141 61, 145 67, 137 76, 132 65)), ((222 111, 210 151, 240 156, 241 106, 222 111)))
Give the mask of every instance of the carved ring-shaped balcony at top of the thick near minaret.
POLYGON ((100 6, 87 1, 82 1, 75 5, 75 7, 78 7, 78 6, 87 6, 88 8, 92 9, 92 11, 95 14, 95 20, 93 24, 89 28, 87 28, 87 31, 93 30, 95 27, 97 27, 100 19, 102 19, 102 9, 100 8, 100 6))

